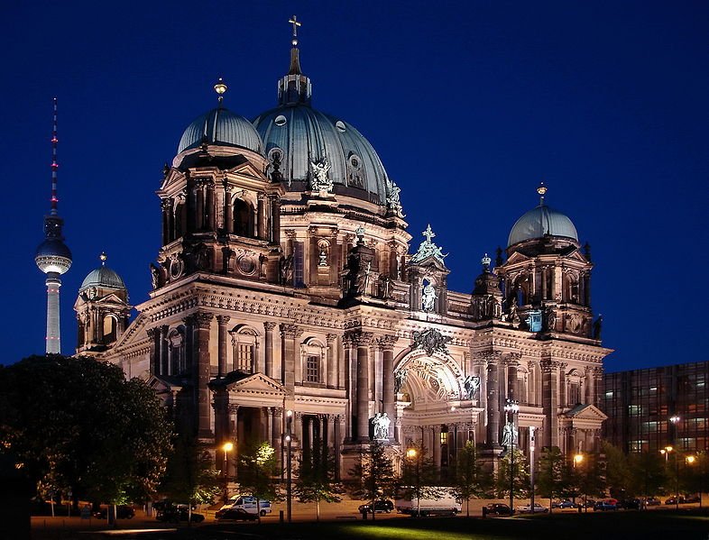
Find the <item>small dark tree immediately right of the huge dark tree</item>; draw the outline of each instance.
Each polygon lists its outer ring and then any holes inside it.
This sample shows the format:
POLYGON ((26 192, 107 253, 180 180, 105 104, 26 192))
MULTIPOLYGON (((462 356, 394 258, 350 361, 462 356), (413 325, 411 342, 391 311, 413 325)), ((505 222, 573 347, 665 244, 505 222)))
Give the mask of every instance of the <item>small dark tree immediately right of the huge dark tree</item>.
POLYGON ((219 493, 219 473, 207 447, 190 435, 177 435, 160 490, 170 499, 193 504, 212 503, 219 493))

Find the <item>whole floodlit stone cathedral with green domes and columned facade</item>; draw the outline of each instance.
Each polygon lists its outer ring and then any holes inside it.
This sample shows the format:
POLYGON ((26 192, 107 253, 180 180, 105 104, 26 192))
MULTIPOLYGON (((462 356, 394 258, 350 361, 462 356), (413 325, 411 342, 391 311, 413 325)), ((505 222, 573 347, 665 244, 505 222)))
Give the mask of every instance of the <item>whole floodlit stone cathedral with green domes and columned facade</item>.
POLYGON ((216 84, 157 191, 150 298, 126 325, 123 281, 92 272, 78 352, 147 380, 215 449, 266 441, 282 459, 290 435, 342 475, 379 440, 400 457, 422 444, 445 479, 467 441, 499 457, 508 424, 523 452, 535 433, 538 448, 594 450, 610 350, 571 220, 540 188, 473 292, 449 290, 435 233, 411 245, 400 188, 361 133, 311 105, 295 39, 290 54, 278 105, 253 122, 216 84))

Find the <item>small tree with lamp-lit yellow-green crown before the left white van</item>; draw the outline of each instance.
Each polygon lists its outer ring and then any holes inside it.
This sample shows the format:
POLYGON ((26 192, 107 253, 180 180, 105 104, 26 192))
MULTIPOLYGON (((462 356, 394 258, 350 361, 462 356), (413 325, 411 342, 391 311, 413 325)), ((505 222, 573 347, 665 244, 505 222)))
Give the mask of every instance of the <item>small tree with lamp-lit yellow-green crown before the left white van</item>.
POLYGON ((256 513, 261 522, 261 500, 277 499, 279 474, 276 451, 271 444, 247 444, 239 460, 239 485, 256 499, 256 513))

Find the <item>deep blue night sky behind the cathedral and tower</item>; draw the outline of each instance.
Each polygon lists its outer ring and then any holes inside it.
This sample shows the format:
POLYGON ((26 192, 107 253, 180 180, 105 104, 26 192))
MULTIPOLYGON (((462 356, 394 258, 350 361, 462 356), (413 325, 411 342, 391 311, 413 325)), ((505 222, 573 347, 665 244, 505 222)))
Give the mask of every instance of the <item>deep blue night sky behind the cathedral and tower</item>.
POLYGON ((73 352, 78 286, 98 254, 131 301, 150 288, 159 188, 183 129, 216 103, 253 118, 288 68, 291 14, 313 105, 354 124, 401 187, 411 251, 430 223, 450 288, 548 204, 596 264, 609 371, 706 355, 709 4, 696 2, 14 2, 0 48, 5 263, 2 362, 44 350, 33 256, 49 209, 60 102, 61 288, 73 352), (112 9, 115 7, 115 9, 112 9))

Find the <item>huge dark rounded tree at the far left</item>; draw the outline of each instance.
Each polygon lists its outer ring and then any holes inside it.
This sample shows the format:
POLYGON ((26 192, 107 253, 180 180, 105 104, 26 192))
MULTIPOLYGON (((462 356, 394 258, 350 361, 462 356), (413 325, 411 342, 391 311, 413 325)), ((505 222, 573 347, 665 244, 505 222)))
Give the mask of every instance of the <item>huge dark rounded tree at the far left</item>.
POLYGON ((170 422, 152 389, 93 358, 32 356, 0 370, 0 452, 32 481, 78 499, 120 504, 156 489, 170 422))

